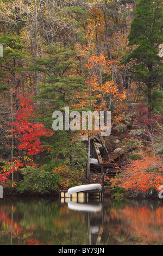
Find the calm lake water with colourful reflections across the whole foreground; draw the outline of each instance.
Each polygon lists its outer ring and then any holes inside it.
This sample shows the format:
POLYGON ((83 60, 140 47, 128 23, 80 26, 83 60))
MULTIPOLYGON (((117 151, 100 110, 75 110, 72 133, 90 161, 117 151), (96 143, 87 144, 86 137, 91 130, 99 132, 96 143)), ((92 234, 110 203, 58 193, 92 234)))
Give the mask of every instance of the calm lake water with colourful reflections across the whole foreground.
POLYGON ((0 199, 0 245, 163 245, 163 199, 0 199))

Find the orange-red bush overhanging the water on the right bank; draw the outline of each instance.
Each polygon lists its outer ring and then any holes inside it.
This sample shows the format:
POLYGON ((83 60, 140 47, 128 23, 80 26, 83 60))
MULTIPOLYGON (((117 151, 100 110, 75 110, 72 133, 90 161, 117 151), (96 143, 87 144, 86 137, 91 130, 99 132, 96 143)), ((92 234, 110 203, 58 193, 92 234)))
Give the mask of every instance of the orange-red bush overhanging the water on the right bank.
POLYGON ((143 153, 142 159, 131 161, 117 178, 112 179, 111 187, 117 185, 135 192, 159 191, 159 186, 163 184, 162 172, 160 157, 143 153))

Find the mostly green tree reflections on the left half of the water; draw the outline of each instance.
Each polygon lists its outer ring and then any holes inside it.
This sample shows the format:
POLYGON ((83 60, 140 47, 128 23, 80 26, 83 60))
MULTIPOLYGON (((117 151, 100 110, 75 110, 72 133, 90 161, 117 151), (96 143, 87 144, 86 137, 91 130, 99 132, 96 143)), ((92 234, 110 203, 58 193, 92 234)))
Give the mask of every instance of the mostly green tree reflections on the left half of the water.
POLYGON ((86 243, 85 215, 51 200, 19 200, 0 205, 0 244, 75 245, 86 243), (18 223, 18 224, 17 224, 18 223), (4 234, 5 230, 5 236, 4 234))

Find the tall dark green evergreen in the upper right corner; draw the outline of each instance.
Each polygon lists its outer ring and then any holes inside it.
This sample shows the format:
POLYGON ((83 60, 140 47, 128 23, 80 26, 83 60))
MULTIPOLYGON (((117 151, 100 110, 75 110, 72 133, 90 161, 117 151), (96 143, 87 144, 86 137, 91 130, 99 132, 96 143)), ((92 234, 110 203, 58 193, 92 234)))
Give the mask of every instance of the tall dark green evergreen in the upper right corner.
POLYGON ((163 41, 162 14, 161 0, 137 1, 135 19, 128 36, 129 45, 138 46, 130 54, 130 59, 136 60, 132 71, 140 88, 145 91, 149 105, 153 104, 153 89, 162 80, 162 61, 158 56, 158 46, 163 41))

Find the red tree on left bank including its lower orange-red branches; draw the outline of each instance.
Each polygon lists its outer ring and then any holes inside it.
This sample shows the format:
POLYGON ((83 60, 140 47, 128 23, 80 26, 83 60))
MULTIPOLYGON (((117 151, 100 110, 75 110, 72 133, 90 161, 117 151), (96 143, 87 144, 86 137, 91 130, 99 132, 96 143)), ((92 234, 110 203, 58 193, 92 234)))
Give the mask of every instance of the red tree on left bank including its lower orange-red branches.
MULTIPOLYGON (((8 123, 9 131, 12 132, 12 136, 17 141, 15 144, 15 151, 23 154, 23 160, 20 154, 14 156, 12 161, 2 168, 0 173, 0 181, 8 181, 8 177, 11 173, 15 172, 19 168, 24 166, 37 166, 31 157, 39 154, 41 151, 49 150, 43 147, 41 143, 41 137, 50 137, 54 132, 45 129, 43 124, 36 121, 36 106, 32 97, 18 95, 19 108, 14 112, 14 122, 8 123), (30 156, 30 157, 28 157, 30 156)), ((11 137, 11 136, 10 136, 11 137)))

